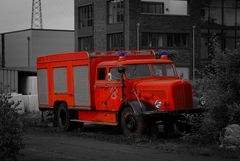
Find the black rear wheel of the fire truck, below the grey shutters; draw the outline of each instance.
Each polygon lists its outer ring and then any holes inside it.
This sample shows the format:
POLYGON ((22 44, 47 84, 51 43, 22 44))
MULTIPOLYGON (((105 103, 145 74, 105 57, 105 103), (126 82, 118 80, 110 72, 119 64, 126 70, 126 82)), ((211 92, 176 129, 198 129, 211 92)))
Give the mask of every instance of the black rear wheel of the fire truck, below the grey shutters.
POLYGON ((72 130, 72 124, 70 122, 70 114, 65 103, 61 103, 56 111, 56 119, 58 127, 62 131, 72 130))

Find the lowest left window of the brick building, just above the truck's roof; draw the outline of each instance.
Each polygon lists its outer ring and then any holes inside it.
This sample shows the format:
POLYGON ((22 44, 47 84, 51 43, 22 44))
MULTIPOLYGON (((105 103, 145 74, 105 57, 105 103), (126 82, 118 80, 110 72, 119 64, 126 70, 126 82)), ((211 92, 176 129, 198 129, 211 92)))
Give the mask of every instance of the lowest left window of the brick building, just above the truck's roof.
POLYGON ((93 38, 92 37, 81 37, 78 39, 79 51, 93 51, 93 38))

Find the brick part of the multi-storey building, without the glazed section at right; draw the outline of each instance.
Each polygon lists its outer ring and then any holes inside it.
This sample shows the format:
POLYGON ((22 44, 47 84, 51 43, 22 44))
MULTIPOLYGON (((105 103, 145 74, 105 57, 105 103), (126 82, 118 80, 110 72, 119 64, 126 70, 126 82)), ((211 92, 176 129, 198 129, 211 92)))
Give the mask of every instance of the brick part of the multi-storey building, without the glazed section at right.
POLYGON ((75 0, 75 49, 168 51, 189 79, 198 7, 187 0, 75 0))

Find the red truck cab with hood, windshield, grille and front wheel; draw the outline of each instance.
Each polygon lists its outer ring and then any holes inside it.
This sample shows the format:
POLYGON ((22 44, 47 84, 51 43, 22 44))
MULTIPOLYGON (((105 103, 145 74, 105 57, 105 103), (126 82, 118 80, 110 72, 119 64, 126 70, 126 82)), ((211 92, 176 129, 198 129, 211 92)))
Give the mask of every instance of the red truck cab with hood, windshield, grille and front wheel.
POLYGON ((167 55, 139 60, 122 56, 99 63, 95 102, 97 110, 120 113, 127 134, 143 132, 159 121, 173 123, 181 113, 195 111, 191 83, 180 79, 167 55))

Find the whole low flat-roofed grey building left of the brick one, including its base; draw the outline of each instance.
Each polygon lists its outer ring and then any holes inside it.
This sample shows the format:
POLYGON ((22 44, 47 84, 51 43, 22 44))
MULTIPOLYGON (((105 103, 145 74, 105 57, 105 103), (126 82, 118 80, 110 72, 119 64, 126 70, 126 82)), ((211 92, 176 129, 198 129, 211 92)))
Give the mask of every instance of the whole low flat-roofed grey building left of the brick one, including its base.
POLYGON ((36 94, 36 58, 74 51, 72 30, 27 29, 0 36, 0 90, 36 94))

